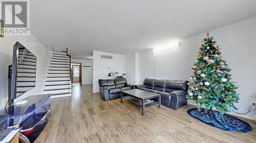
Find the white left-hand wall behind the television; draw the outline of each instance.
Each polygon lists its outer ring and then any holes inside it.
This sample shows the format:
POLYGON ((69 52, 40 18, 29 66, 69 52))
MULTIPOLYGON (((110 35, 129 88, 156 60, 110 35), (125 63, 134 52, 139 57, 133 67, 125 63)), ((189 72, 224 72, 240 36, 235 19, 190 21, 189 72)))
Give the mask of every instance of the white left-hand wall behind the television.
POLYGON ((4 109, 8 100, 8 65, 12 64, 13 45, 16 41, 24 45, 37 57, 35 88, 17 99, 26 98, 29 95, 41 94, 44 89, 51 49, 43 46, 33 35, 5 36, 4 38, 0 38, 0 110, 4 109))

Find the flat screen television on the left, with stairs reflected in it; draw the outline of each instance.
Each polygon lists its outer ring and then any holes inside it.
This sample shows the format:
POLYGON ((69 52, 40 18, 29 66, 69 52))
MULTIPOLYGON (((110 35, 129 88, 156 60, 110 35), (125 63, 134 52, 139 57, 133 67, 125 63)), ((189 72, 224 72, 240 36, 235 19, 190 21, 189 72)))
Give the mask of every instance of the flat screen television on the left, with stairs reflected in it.
POLYGON ((14 99, 33 89, 36 81, 36 56, 19 42, 13 46, 8 79, 8 114, 12 115, 14 99))

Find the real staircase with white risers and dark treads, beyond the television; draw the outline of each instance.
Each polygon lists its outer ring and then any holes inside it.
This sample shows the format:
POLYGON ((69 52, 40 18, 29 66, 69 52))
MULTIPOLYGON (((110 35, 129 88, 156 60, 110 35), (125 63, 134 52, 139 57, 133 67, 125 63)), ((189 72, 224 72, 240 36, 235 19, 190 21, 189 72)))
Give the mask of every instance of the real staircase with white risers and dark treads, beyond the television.
POLYGON ((46 78, 44 93, 51 98, 71 96, 70 55, 53 51, 46 78))

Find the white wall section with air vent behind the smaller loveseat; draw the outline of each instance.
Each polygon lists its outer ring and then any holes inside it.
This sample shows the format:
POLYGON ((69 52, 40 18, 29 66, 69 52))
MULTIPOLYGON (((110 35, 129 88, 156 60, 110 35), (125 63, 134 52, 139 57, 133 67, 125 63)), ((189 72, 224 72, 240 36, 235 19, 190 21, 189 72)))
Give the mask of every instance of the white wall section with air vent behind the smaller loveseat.
POLYGON ((111 71, 125 73, 125 55, 93 51, 93 93, 99 92, 98 80, 109 79, 111 71), (101 59, 101 55, 111 55, 113 59, 101 59))

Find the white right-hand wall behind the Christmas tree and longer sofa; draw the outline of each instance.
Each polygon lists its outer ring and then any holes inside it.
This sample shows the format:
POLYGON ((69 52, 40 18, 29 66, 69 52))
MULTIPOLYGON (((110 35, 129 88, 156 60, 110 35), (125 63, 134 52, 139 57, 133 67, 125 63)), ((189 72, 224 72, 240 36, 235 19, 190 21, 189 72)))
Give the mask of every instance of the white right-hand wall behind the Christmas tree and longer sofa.
MULTIPOLYGON (((256 103, 256 17, 209 31, 222 48, 223 59, 230 65, 232 80, 240 85, 236 106, 245 112, 256 103)), ((144 78, 188 80, 191 66, 197 59, 205 33, 180 40, 180 48, 153 54, 152 50, 139 53, 140 83, 144 78)), ((251 115, 254 112, 251 112, 251 115)), ((255 119, 254 117, 249 117, 255 119)))

